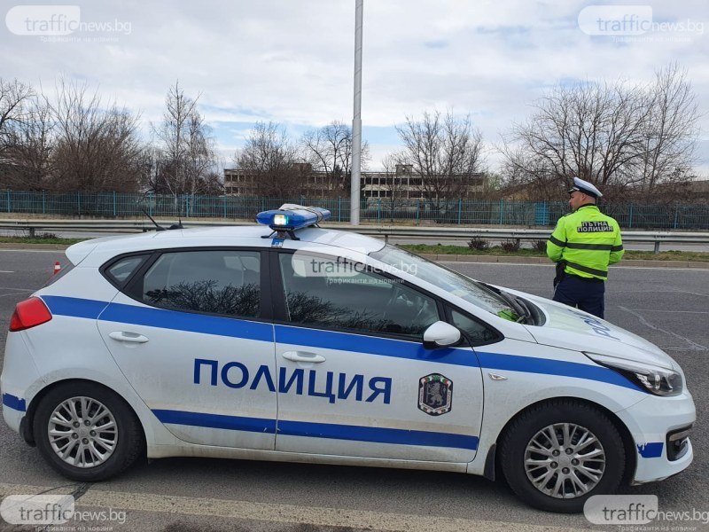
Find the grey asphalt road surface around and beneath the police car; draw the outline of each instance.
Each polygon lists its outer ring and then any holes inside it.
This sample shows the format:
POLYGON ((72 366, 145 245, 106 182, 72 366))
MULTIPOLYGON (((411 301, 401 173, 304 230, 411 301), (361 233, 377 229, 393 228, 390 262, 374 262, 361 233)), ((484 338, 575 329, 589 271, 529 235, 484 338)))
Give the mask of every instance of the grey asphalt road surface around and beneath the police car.
MULTIPOLYGON (((0 250, 0 346, 14 304, 43 286, 54 262, 64 260, 60 251, 0 250)), ((551 295, 551 266, 450 266, 490 283, 551 295)), ((692 435, 696 456, 690 469, 666 481, 628 487, 624 493, 656 495, 660 510, 704 512, 707 522, 708 281, 709 270, 614 267, 606 298, 607 319, 653 341, 682 364, 697 404, 692 435)), ((538 512, 518 502, 502 481, 459 473, 166 458, 139 463, 112 481, 80 485, 54 473, 37 450, 0 423, 0 494, 42 489, 85 492, 78 499, 80 508, 111 509, 123 523, 116 517, 84 524, 116 532, 620 529, 595 527, 582 514, 538 512)), ((657 521, 638 529, 680 530, 676 527, 709 530, 702 520, 657 521)), ((0 522, 0 530, 5 528, 19 529, 0 522)), ((68 529, 82 528, 74 523, 68 529)))

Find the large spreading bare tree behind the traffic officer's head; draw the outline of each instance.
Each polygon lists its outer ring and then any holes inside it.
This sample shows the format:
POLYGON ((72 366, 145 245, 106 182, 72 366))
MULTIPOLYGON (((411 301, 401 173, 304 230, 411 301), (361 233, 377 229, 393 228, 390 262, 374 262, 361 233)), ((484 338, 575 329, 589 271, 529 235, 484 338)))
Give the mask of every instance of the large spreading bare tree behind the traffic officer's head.
POLYGON ((560 197, 570 176, 604 187, 608 197, 648 192, 687 174, 697 106, 676 67, 650 86, 624 82, 558 85, 505 139, 506 177, 534 195, 560 197))

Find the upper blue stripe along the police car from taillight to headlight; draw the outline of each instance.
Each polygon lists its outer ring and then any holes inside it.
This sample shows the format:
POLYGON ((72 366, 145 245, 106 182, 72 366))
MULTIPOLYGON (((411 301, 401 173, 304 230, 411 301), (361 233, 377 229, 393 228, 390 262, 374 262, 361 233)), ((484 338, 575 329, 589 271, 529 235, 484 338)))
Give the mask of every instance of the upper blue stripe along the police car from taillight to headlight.
POLYGON ((321 331, 288 325, 270 325, 236 318, 207 316, 166 309, 153 309, 122 303, 108 304, 78 298, 43 296, 52 314, 88 317, 103 321, 148 325, 175 331, 200 332, 246 340, 273 341, 313 348, 328 348, 393 356, 422 362, 482 367, 490 370, 557 375, 576 379, 596 380, 636 391, 643 391, 634 383, 611 369, 591 365, 549 360, 534 356, 504 355, 468 349, 442 348, 428 350, 419 342, 393 340, 347 332, 321 331), (477 355, 477 356, 476 356, 477 355))

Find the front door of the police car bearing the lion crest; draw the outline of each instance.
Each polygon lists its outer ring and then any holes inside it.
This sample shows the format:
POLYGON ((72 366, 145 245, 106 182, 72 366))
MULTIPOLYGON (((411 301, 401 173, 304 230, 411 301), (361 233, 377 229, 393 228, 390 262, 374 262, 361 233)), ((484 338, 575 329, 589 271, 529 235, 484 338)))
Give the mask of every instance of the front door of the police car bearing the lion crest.
POLYGON ((475 458, 480 368, 471 348, 424 347, 425 328, 442 316, 438 301, 342 257, 281 250, 272 269, 277 450, 475 458))

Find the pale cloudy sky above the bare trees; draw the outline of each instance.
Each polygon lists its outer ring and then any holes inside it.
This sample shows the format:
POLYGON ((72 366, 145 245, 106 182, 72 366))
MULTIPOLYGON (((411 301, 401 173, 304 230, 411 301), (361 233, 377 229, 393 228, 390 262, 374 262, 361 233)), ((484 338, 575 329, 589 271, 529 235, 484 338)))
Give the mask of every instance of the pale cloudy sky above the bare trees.
MULTIPOLYGON (((257 121, 279 122, 292 138, 331 121, 351 123, 354 5, 11 0, 0 8, 0 77, 48 93, 58 76, 86 82, 140 113, 146 134, 179 80, 185 94, 201 95, 200 110, 230 166, 257 121), (69 24, 78 21, 78 29, 69 24), (57 33, 64 35, 50 35, 57 33)), ((470 113, 482 129, 495 169, 501 135, 555 83, 650 82, 676 61, 704 114, 698 166, 709 178, 708 5, 364 0, 362 137, 371 145, 370 168, 400 147, 395 124, 452 109, 470 113), (649 28, 642 34, 641 22, 649 28)))

